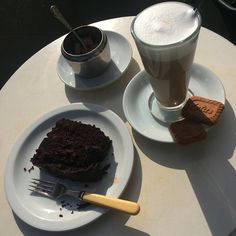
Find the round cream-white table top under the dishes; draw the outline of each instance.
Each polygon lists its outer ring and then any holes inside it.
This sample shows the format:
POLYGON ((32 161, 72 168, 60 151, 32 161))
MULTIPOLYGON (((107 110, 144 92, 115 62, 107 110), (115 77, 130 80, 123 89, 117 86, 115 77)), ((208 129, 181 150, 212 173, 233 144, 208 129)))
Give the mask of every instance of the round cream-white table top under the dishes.
POLYGON ((226 236, 236 228, 235 46, 201 29, 195 62, 221 79, 227 98, 225 111, 203 144, 182 147, 158 143, 136 133, 122 110, 127 83, 143 69, 129 31, 131 20, 123 17, 95 24, 122 34, 133 48, 129 69, 114 84, 93 92, 65 87, 56 72, 62 42, 59 38, 26 61, 0 91, 0 235, 52 234, 26 225, 13 214, 4 194, 4 168, 12 145, 29 124, 73 102, 100 104, 126 123, 135 146, 135 164, 122 197, 138 201, 141 211, 137 216, 109 211, 92 224, 65 235, 226 236))

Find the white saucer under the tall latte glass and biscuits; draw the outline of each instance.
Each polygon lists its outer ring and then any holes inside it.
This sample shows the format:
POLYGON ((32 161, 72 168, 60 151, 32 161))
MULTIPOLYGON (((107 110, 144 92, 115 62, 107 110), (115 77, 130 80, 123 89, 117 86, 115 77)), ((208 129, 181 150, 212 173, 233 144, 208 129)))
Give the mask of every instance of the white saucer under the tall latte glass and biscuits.
MULTIPOLYGON (((221 81, 209 69, 194 64, 189 82, 193 95, 213 99, 225 104, 225 91, 221 81)), ((143 136, 160 142, 174 142, 167 126, 153 118, 148 100, 152 88, 145 72, 139 72, 128 84, 123 96, 123 109, 130 125, 143 136)))

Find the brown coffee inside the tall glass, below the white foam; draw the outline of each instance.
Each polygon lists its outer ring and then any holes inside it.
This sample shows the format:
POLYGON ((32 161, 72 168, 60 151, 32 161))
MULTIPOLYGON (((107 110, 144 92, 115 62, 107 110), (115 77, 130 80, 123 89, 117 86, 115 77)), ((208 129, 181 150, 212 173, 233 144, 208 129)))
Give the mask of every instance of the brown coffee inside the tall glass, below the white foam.
POLYGON ((193 57, 192 52, 172 61, 143 58, 155 97, 161 105, 174 107, 185 101, 193 57))

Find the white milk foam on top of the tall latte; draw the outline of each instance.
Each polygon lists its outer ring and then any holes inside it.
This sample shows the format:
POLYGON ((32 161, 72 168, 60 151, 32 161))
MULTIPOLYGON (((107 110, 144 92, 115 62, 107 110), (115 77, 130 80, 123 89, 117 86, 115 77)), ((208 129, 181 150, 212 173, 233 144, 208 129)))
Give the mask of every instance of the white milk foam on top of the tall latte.
POLYGON ((134 32, 145 43, 168 45, 190 36, 197 29, 198 21, 191 6, 164 2, 142 11, 134 22, 134 32))

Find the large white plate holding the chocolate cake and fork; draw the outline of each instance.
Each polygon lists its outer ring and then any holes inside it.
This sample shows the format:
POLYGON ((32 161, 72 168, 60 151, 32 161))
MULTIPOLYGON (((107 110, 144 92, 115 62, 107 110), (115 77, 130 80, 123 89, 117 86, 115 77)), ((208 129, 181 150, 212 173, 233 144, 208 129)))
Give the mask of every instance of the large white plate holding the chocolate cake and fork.
POLYGON ((123 121, 115 113, 101 106, 88 103, 67 105, 47 113, 32 124, 12 149, 5 171, 5 191, 9 204, 18 217, 33 227, 47 231, 65 231, 78 228, 92 222, 107 211, 94 205, 76 211, 77 201, 70 199, 70 204, 74 209, 71 214, 70 206, 60 210, 61 202, 32 195, 27 190, 31 178, 59 180, 40 172, 37 167, 30 173, 25 172, 24 168, 30 169, 32 166, 30 158, 36 148, 46 133, 55 125, 55 122, 61 118, 95 124, 111 138, 113 146, 106 161, 104 160, 104 164, 109 163, 111 166, 101 181, 93 184, 88 183, 89 186, 84 188, 85 185, 77 181, 60 179, 60 182, 66 183, 69 187, 82 188, 118 198, 127 185, 134 158, 132 140, 123 121), (59 217, 59 214, 63 214, 63 217, 59 217))

